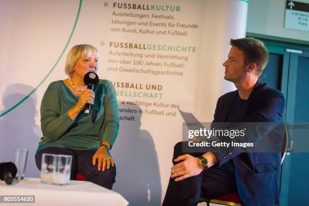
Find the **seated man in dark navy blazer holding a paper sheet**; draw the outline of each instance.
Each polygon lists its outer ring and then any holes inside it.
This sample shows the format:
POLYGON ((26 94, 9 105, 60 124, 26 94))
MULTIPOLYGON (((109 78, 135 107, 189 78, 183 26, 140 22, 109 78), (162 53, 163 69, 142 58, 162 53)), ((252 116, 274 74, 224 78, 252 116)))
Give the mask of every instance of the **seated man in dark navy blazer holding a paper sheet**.
MULTIPOLYGON (((231 39, 224 79, 237 90, 218 99, 213 122, 255 122, 249 139, 257 143, 274 128, 259 123, 284 119, 283 94, 259 81, 268 62, 263 42, 254 38, 231 39)), ((279 142, 280 143, 280 142, 279 142)), ((245 205, 279 204, 280 152, 185 153, 179 142, 163 205, 197 205, 200 196, 216 198, 238 192, 245 205)))

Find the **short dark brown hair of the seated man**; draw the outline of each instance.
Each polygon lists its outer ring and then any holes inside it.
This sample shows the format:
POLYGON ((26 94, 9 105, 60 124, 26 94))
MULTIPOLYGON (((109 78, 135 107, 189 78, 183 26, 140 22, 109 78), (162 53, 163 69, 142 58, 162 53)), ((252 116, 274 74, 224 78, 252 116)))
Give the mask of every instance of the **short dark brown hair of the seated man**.
POLYGON ((244 64, 255 64, 257 75, 261 75, 268 63, 268 50, 264 43, 252 37, 231 39, 230 44, 241 50, 244 57, 244 64))

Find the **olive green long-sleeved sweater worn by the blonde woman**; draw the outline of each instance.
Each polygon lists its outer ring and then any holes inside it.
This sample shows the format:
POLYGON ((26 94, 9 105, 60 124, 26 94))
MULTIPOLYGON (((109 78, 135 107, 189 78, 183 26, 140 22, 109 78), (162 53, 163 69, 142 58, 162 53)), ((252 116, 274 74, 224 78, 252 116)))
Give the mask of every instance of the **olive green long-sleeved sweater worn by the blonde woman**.
POLYGON ((101 141, 108 141, 113 146, 119 128, 115 88, 110 81, 100 80, 94 93, 89 116, 82 110, 73 121, 67 112, 76 105, 79 96, 62 80, 49 84, 41 103, 43 137, 37 151, 59 146, 80 153, 98 148, 101 141))

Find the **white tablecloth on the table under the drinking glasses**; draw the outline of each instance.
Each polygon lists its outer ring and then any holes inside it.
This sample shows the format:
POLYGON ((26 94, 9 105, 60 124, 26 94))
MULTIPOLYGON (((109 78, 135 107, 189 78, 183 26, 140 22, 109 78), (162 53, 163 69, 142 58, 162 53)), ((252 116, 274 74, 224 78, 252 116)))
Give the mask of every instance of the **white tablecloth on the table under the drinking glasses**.
MULTIPOLYGON (((39 178, 14 180, 12 185, 0 181, 0 195, 35 195, 35 203, 26 205, 128 205, 128 201, 119 193, 86 181, 71 180, 69 185, 47 185, 39 178)), ((3 203, 0 203, 2 205, 3 203)), ((24 205, 9 203, 8 205, 24 205)))

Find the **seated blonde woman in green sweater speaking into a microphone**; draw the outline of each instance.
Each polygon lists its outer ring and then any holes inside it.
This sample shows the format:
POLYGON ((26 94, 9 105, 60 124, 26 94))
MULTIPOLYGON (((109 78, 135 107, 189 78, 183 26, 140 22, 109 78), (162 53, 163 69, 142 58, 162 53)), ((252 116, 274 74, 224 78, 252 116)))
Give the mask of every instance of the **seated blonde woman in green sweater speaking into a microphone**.
POLYGON ((97 72, 97 49, 88 44, 75 45, 66 60, 69 78, 49 84, 41 102, 43 137, 35 154, 38 169, 42 153, 72 155, 71 179, 83 174, 88 181, 112 189, 116 167, 109 150, 119 128, 116 92, 108 80, 99 80, 92 90, 84 75, 97 72), (91 113, 83 112, 91 104, 91 113))

